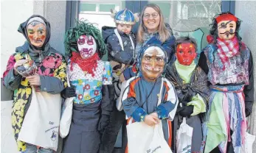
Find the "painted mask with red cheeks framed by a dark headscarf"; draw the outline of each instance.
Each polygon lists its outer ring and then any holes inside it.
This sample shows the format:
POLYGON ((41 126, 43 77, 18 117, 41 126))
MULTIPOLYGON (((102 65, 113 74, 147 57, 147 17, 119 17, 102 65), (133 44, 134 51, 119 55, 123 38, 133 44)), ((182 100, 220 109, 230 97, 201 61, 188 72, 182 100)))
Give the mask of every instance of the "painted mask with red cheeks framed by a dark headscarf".
POLYGON ((44 45, 46 38, 46 26, 44 24, 29 24, 27 35, 32 46, 41 47, 44 45))

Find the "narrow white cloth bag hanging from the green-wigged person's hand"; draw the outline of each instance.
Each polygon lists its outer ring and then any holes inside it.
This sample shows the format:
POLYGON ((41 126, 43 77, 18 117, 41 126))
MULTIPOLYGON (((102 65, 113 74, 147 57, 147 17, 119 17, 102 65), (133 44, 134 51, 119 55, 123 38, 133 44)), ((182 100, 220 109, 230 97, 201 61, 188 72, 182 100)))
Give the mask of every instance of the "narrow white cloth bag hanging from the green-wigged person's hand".
MULTIPOLYGON (((68 87, 70 87, 68 71, 66 71, 66 78, 68 82, 68 87)), ((65 99, 65 102, 62 106, 61 118, 60 118, 60 137, 61 138, 66 138, 66 135, 69 134, 69 129, 72 121, 72 110, 73 110, 74 99, 75 97, 70 97, 65 99)))

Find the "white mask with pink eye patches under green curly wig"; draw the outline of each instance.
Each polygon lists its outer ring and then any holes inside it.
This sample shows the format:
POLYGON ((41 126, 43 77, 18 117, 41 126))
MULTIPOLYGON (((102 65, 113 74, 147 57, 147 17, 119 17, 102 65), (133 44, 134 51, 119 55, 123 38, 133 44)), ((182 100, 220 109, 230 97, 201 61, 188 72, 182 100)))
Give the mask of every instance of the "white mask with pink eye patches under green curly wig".
POLYGON ((97 44, 91 35, 80 35, 80 37, 77 39, 77 46, 80 52, 80 56, 83 59, 89 58, 94 55, 97 49, 97 44))

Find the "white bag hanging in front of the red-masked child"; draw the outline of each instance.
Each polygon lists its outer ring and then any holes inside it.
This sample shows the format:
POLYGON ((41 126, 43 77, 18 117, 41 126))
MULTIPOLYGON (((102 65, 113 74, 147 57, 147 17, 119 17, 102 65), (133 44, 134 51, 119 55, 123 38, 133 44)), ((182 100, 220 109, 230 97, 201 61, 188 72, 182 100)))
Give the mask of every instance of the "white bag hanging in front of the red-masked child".
POLYGON ((177 130, 177 153, 191 152, 193 127, 186 124, 186 118, 183 118, 181 126, 177 130))

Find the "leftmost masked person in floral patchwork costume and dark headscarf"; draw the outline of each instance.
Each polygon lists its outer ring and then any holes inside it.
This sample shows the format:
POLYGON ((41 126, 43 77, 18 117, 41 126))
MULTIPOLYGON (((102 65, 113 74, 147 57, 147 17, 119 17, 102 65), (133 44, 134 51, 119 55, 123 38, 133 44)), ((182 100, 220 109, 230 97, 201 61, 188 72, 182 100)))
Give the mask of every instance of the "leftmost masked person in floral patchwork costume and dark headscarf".
POLYGON ((3 75, 4 86, 14 90, 12 127, 15 140, 19 152, 34 153, 39 150, 51 153, 52 149, 37 149, 37 146, 17 139, 32 102, 32 87, 37 92, 60 93, 67 85, 66 61, 49 45, 50 24, 41 15, 32 15, 18 27, 18 32, 24 35, 27 42, 15 49, 3 75))

